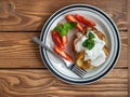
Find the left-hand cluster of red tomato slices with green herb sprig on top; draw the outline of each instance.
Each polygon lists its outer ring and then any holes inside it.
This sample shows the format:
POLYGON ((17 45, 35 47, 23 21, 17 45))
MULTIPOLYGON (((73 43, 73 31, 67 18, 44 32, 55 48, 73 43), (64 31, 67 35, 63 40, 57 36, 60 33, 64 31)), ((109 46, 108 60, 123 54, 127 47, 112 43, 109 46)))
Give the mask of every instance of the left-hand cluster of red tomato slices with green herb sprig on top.
POLYGON ((75 28, 76 26, 76 22, 69 22, 57 25, 52 31, 52 40, 55 43, 53 50, 68 61, 73 61, 73 58, 66 52, 64 52, 65 45, 68 42, 67 33, 68 30, 75 28))

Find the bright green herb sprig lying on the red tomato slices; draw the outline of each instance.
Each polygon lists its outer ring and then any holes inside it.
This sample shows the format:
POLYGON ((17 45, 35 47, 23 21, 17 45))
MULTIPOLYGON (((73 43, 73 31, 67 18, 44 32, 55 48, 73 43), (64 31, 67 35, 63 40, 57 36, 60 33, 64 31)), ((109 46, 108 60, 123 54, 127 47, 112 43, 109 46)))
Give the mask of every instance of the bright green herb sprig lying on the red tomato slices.
POLYGON ((77 26, 76 22, 65 23, 63 25, 57 25, 54 30, 60 33, 61 37, 66 36, 68 30, 77 26))

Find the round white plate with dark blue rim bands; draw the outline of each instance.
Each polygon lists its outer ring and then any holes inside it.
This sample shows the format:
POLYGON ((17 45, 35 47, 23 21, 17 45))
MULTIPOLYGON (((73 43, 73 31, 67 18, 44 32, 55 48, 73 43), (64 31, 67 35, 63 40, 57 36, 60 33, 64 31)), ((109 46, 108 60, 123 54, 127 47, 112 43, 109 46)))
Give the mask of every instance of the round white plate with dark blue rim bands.
MULTIPOLYGON (((87 70, 88 73, 84 75, 84 78, 77 77, 74 72, 63 67, 63 63, 61 63, 60 59, 57 59, 55 56, 51 55, 48 51, 46 51, 43 47, 40 46, 40 53, 43 63, 46 64, 47 68, 58 79, 70 83, 70 84, 89 84, 92 82, 98 81, 99 79, 103 78, 109 70, 113 69, 115 66, 115 63, 118 59, 119 53, 120 53, 120 38, 119 32, 112 20, 112 18, 102 10, 88 5, 88 4, 73 4, 65 6, 58 11, 56 11, 46 23, 40 40, 46 43, 49 46, 53 46, 54 43, 51 38, 51 31, 54 29, 54 27, 60 23, 65 23, 65 16, 67 14, 80 14, 89 19, 92 19, 95 22, 96 26, 100 31, 102 31, 106 39, 107 39, 107 46, 109 48, 109 55, 106 59, 106 61, 95 68, 87 70)), ((66 52, 74 56, 74 52, 72 51, 72 37, 76 34, 78 30, 74 29, 70 32, 68 32, 68 43, 66 45, 66 52)))

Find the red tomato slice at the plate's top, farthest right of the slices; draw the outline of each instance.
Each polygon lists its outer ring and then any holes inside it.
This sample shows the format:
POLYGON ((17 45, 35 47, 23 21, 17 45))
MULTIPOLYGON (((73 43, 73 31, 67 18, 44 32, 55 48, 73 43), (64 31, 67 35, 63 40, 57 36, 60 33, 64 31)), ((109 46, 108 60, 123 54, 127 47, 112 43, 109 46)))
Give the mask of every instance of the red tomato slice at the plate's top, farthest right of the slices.
POLYGON ((81 16, 81 15, 79 15, 79 14, 76 14, 75 17, 76 17, 76 19, 77 19, 78 22, 80 22, 80 23, 82 23, 82 24, 84 24, 84 25, 87 25, 87 26, 90 26, 90 27, 95 26, 95 23, 94 23, 94 22, 92 22, 92 20, 90 20, 90 19, 88 19, 88 18, 84 18, 83 16, 81 16))

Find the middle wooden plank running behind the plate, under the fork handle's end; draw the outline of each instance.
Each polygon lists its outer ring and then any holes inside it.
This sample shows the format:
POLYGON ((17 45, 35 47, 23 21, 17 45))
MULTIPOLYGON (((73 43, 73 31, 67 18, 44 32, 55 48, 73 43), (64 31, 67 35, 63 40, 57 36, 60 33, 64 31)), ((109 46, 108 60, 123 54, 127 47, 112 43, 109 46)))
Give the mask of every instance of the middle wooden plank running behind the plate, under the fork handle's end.
MULTIPOLYGON (((0 68, 44 68, 39 47, 31 41, 40 32, 0 32, 0 68)), ((120 31, 121 54, 116 67, 127 67, 127 32, 120 31)))

